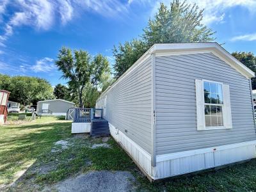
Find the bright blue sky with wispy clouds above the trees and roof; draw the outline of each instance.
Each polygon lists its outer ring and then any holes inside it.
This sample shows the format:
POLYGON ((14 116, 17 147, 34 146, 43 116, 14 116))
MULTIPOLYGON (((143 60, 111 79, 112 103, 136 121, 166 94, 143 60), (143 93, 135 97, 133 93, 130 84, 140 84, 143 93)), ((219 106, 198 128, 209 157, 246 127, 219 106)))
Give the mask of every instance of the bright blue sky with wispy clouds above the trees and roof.
MULTIPOLYGON (((0 0, 0 72, 60 79, 54 60, 61 46, 102 53, 141 35, 159 2, 152 0, 0 0)), ((204 8, 204 24, 229 52, 256 54, 256 0, 188 0, 204 8)))

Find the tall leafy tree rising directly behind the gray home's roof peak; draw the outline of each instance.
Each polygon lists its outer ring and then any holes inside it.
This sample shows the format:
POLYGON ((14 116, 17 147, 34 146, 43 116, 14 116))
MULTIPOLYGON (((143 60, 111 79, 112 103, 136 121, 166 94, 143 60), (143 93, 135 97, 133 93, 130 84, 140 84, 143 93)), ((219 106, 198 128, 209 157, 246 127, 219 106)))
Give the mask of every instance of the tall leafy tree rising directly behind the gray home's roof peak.
POLYGON ((115 77, 118 78, 154 44, 211 42, 214 31, 202 24, 204 10, 196 4, 173 0, 170 9, 161 3, 140 38, 114 47, 115 77))

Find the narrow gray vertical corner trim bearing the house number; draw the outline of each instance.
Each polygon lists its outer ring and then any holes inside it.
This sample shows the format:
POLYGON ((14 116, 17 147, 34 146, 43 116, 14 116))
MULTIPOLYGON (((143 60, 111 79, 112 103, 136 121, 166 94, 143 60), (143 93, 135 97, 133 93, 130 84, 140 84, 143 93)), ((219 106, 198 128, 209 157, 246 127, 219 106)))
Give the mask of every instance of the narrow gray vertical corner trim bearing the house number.
POLYGON ((156 167, 156 54, 152 52, 151 54, 152 63, 152 86, 151 86, 151 164, 152 167, 156 167))

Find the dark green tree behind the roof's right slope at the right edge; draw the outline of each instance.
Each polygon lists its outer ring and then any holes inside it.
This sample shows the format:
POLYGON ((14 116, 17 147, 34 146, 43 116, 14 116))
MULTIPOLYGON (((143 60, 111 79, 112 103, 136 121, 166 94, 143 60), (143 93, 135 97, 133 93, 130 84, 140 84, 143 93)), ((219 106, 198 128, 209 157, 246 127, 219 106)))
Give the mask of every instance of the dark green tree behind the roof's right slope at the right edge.
MULTIPOLYGON (((256 72, 256 56, 254 56, 252 52, 233 52, 232 56, 243 63, 246 67, 250 68, 250 70, 256 72)), ((252 78, 252 89, 256 89, 255 77, 252 78)))

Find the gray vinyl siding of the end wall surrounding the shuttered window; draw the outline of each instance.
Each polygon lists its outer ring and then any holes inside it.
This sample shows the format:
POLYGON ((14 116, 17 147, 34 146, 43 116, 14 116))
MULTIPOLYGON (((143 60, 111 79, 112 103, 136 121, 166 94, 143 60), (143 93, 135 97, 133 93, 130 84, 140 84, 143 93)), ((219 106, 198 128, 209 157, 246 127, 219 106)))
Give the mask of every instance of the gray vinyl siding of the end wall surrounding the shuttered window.
POLYGON ((156 57, 156 155, 256 140, 250 82, 211 53, 156 57), (230 86, 233 129, 197 131, 195 79, 230 86))

